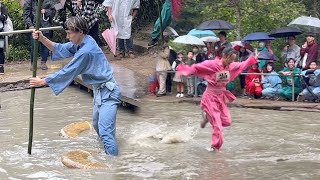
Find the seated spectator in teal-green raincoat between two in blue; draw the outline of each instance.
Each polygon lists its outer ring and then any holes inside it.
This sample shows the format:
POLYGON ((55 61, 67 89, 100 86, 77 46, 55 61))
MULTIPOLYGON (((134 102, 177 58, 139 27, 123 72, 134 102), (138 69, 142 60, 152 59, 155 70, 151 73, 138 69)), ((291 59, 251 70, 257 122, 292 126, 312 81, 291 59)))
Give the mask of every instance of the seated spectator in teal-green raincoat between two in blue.
POLYGON ((294 96, 295 98, 298 96, 300 91, 300 77, 292 75, 299 75, 301 70, 299 68, 295 68, 295 60, 289 59, 288 61, 288 67, 285 67, 282 71, 279 72, 279 74, 285 75, 285 77, 282 77, 282 82, 285 83, 285 85, 279 89, 279 95, 284 100, 291 100, 292 99, 292 85, 294 82, 294 96))

